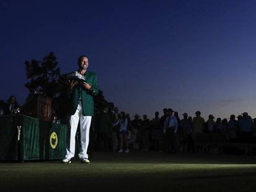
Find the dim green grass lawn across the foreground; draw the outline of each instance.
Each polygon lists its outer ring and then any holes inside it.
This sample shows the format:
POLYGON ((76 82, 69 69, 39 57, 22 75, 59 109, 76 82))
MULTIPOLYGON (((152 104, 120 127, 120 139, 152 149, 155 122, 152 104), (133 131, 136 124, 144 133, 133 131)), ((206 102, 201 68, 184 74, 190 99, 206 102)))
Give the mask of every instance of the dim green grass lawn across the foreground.
POLYGON ((1 191, 256 191, 256 157, 94 153, 75 159, 1 163, 1 191))

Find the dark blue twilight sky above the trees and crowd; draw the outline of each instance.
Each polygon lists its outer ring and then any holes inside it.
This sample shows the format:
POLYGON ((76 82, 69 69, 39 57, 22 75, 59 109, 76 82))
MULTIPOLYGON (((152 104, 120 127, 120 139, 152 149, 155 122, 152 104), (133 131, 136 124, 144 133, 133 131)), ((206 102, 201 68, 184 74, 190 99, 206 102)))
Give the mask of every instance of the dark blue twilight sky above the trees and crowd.
POLYGON ((87 54, 105 98, 131 116, 256 117, 256 1, 0 2, 0 99, 23 104, 25 60, 62 73, 87 54))

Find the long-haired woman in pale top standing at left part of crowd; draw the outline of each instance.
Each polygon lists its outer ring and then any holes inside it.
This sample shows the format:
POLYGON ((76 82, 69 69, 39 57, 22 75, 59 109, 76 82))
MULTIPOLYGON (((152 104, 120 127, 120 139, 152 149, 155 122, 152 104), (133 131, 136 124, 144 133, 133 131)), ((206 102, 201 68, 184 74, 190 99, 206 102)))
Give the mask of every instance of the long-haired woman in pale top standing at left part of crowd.
POLYGON ((116 123, 114 123, 113 127, 119 125, 119 151, 118 152, 129 152, 128 148, 128 130, 127 130, 127 118, 124 112, 120 113, 120 117, 116 123), (123 151, 123 146, 125 146, 125 150, 123 151))

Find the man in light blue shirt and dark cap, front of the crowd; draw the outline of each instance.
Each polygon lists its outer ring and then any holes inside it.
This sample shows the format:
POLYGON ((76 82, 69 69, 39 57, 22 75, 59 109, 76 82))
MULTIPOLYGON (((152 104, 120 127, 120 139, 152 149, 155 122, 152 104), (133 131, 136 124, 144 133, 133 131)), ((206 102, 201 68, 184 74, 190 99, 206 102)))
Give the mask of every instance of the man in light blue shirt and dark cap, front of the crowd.
POLYGON ((177 152, 177 119, 173 115, 173 109, 168 109, 168 117, 164 123, 164 138, 166 144, 166 152, 177 152))

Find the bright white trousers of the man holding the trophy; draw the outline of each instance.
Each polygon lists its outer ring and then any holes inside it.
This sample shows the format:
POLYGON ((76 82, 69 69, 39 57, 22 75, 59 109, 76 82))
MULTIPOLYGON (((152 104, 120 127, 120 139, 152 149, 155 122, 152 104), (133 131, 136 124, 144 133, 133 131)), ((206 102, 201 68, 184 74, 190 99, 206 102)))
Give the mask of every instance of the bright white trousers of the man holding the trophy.
POLYGON ((81 140, 79 158, 88 159, 87 148, 89 144, 89 133, 92 116, 83 116, 81 101, 77 106, 77 111, 75 111, 75 114, 71 115, 69 119, 69 127, 67 128, 67 154, 65 156, 67 159, 71 159, 75 156, 75 133, 77 132, 79 119, 81 140))

